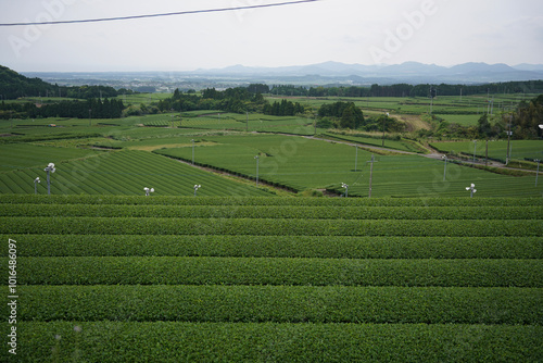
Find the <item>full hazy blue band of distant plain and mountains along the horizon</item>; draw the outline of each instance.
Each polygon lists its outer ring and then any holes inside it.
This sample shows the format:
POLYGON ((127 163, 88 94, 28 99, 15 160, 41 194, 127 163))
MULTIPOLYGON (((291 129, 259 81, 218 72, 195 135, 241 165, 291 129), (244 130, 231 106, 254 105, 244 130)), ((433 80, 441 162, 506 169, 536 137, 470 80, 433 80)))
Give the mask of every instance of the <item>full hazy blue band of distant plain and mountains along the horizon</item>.
POLYGON ((110 85, 132 88, 132 84, 175 89, 236 87, 250 83, 300 86, 372 84, 488 84, 543 79, 543 64, 464 63, 451 67, 418 62, 393 65, 363 65, 325 62, 310 65, 252 67, 232 65, 190 72, 24 72, 59 85, 110 85))

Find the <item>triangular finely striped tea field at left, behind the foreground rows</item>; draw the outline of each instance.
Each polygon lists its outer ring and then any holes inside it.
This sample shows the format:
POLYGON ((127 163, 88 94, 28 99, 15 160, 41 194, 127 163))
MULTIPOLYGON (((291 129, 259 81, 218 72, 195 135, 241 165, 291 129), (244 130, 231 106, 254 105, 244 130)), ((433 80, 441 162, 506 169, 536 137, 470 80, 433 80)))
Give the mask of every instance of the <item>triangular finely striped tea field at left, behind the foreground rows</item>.
MULTIPOLYGON (((34 178, 40 177, 38 193, 47 193, 43 167, 26 167, 0 174, 1 193, 34 193, 34 178)), ((101 152, 83 160, 55 164, 51 175, 53 195, 142 195, 143 188, 154 188, 156 196, 191 196, 193 186, 201 185, 199 196, 265 196, 253 186, 162 158, 150 152, 131 150, 101 152)))

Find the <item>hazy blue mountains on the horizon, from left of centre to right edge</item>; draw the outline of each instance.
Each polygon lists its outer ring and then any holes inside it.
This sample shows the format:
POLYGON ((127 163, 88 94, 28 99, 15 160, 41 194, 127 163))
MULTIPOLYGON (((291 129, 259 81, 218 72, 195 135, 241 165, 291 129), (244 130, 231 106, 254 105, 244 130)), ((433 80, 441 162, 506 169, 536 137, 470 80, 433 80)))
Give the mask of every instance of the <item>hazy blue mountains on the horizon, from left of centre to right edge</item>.
POLYGON ((464 63, 451 67, 418 62, 394 65, 363 65, 325 62, 311 65, 281 67, 250 67, 233 65, 219 70, 197 70, 201 76, 223 76, 239 78, 332 78, 354 84, 392 83, 493 83, 510 80, 543 79, 543 64, 464 63))

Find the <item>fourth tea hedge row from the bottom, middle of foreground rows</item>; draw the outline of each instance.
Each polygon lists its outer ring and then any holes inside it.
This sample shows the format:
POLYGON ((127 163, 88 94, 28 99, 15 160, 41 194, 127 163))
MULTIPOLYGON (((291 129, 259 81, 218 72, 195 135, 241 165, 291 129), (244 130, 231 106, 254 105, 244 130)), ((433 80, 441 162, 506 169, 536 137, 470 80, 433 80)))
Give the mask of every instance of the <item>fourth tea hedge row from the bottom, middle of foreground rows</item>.
POLYGON ((0 235, 18 256, 543 259, 540 237, 0 235))

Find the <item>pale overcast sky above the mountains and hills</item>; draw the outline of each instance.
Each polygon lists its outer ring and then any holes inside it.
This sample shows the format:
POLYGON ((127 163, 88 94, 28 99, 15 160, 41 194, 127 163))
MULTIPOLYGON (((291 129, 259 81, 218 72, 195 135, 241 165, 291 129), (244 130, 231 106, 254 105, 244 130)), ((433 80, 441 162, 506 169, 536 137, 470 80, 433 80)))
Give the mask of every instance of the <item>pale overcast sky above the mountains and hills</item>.
MULTIPOLYGON (((0 23, 288 0, 0 0, 0 23)), ((191 71, 327 61, 543 63, 541 0, 320 0, 280 8, 0 27, 0 64, 30 71, 191 71)))

